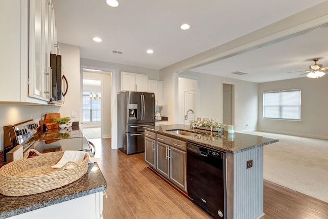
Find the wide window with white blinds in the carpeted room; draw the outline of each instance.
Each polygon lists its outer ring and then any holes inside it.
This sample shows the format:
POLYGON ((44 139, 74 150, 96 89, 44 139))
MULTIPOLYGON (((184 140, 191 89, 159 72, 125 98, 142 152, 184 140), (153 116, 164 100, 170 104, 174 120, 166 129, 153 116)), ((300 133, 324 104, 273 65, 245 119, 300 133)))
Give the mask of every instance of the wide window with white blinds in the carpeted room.
POLYGON ((301 91, 263 93, 263 118, 301 120, 301 91))

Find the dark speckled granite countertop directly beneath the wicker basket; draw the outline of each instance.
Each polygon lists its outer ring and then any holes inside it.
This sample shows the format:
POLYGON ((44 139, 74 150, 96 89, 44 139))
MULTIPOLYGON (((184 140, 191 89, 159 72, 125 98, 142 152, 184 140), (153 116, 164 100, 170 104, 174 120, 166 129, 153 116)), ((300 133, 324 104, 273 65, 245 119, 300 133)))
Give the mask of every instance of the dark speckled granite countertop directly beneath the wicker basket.
POLYGON ((88 172, 77 181, 33 195, 5 196, 0 194, 0 218, 7 218, 61 202, 103 191, 107 184, 98 165, 89 164, 88 172))

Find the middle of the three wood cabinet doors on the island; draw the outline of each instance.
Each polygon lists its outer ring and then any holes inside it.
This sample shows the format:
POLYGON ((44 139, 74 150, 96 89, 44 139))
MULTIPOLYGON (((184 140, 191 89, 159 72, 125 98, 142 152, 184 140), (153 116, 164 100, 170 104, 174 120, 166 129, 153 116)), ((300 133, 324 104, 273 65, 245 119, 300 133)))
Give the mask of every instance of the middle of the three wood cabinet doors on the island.
POLYGON ((165 177, 169 177, 169 146, 156 142, 156 171, 165 177))

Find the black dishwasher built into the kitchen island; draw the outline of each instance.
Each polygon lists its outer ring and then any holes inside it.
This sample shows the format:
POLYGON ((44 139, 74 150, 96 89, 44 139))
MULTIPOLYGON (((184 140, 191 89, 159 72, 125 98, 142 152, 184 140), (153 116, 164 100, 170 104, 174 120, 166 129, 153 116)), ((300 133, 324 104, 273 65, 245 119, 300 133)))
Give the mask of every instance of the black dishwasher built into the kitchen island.
POLYGON ((215 218, 227 218, 227 153, 188 143, 187 188, 189 199, 215 218))

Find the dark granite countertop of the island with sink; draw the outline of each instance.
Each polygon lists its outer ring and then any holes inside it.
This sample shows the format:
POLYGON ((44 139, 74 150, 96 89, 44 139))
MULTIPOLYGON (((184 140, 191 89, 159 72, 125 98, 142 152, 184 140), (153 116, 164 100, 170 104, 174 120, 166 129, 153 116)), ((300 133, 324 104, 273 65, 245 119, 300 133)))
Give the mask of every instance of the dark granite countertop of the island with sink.
POLYGON ((164 125, 164 126, 147 126, 146 130, 153 131, 169 137, 174 137, 182 141, 193 142, 196 144, 204 145, 216 150, 226 151, 230 153, 242 152, 256 147, 278 142, 277 138, 257 136, 244 133, 228 134, 227 131, 211 132, 200 129, 195 129, 199 132, 196 135, 180 135, 166 130, 169 129, 184 129, 191 130, 187 125, 164 125))

